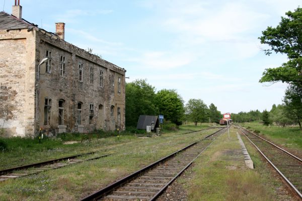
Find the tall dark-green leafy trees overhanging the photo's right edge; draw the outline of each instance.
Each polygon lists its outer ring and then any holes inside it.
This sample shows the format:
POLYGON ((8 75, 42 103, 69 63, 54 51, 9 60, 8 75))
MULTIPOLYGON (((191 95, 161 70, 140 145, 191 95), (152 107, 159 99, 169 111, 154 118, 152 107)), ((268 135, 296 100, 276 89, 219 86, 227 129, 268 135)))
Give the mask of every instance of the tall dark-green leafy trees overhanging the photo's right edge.
POLYGON ((281 17, 277 27, 268 27, 259 39, 262 44, 269 46, 269 49, 264 50, 266 55, 272 52, 286 54, 288 61, 280 67, 265 69, 259 81, 282 81, 289 84, 283 105, 273 106, 271 118, 277 124, 285 124, 288 120, 296 121, 302 130, 302 8, 285 14, 287 17, 281 17), (283 117, 287 119, 275 119, 283 117))

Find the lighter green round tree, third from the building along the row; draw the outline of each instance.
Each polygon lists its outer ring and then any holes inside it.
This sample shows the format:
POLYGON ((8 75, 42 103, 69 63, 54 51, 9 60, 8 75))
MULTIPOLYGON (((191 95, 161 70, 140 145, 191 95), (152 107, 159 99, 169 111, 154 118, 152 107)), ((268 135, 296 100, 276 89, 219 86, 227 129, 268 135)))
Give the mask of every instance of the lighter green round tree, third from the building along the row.
POLYGON ((208 108, 201 99, 189 99, 186 104, 186 114, 195 126, 198 122, 206 122, 208 119, 208 108))

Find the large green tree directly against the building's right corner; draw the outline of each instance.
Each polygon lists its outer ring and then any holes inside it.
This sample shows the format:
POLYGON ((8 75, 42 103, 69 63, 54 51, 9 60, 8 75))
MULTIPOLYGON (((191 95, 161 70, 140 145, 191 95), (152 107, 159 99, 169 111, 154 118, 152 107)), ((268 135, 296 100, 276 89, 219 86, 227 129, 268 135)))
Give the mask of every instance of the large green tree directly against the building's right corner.
POLYGON ((145 79, 126 83, 126 126, 136 126, 139 115, 158 115, 155 87, 145 79))

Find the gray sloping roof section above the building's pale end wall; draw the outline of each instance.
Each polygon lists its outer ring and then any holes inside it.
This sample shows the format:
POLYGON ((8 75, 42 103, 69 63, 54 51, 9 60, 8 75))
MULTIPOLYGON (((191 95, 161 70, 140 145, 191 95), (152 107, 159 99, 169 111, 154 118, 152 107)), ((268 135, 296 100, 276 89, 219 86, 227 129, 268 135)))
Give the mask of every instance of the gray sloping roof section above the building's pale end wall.
POLYGON ((20 20, 6 12, 0 12, 0 30, 3 29, 28 29, 35 27, 34 24, 30 24, 24 20, 20 20))

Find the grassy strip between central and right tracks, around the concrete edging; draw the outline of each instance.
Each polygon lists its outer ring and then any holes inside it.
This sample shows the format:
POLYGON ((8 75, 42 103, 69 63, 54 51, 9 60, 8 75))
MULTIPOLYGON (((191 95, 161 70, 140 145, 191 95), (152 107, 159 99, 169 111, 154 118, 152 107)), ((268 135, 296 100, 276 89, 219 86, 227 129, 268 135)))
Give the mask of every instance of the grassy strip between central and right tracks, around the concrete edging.
POLYGON ((225 132, 196 160, 193 179, 180 180, 189 200, 291 200, 255 148, 245 140, 255 169, 248 169, 236 135, 225 132), (278 192, 278 193, 277 193, 278 192))

